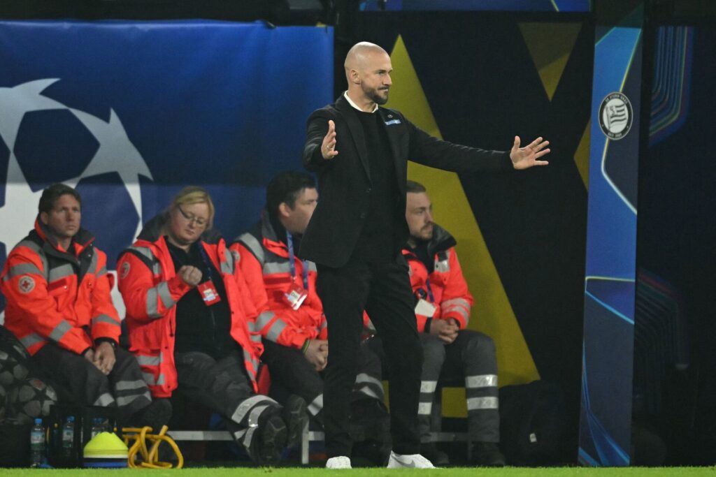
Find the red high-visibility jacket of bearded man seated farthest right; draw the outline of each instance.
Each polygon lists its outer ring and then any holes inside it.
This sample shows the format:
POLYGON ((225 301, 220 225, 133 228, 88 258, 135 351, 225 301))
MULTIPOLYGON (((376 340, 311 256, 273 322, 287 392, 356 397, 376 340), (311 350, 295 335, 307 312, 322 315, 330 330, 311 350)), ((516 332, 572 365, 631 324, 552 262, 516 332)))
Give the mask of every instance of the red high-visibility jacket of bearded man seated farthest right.
MULTIPOLYGON (((470 308, 473 306, 473 295, 470 295, 468 283, 463 277, 463 270, 455 253, 455 239, 439 225, 433 225, 432 240, 427 244, 427 251, 435 258, 435 268, 428 275, 427 267, 423 264, 410 247, 402 251, 408 267, 410 267, 410 285, 416 297, 423 297, 435 305, 433 320, 448 320, 454 318, 458 321, 460 329, 464 330, 470 321, 470 308), (427 279, 430 278, 430 291, 427 290, 427 279)), ((427 316, 415 314, 417 330, 425 331, 427 316)))

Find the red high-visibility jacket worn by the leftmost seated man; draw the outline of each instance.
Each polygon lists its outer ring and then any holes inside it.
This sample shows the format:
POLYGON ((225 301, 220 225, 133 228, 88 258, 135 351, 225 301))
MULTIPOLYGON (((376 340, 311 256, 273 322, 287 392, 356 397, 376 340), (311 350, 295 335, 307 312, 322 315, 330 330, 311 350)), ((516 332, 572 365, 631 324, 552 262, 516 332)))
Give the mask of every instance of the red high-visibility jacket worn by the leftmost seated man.
POLYGON ((81 354, 97 338, 120 338, 112 305, 107 255, 80 229, 64 250, 39 220, 7 257, 0 290, 7 300, 5 326, 31 355, 52 341, 81 354))

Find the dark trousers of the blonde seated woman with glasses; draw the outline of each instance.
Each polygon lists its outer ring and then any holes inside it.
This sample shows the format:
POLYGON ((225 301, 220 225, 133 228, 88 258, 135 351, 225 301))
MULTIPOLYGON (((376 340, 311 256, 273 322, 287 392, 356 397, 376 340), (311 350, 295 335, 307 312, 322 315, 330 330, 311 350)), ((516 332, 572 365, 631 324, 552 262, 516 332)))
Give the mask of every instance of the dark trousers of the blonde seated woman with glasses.
POLYGON ((188 400, 205 405, 225 418, 226 427, 236 441, 256 458, 258 418, 275 413, 279 403, 253 392, 246 374, 243 356, 233 351, 215 360, 206 353, 189 351, 174 353, 178 388, 188 400))

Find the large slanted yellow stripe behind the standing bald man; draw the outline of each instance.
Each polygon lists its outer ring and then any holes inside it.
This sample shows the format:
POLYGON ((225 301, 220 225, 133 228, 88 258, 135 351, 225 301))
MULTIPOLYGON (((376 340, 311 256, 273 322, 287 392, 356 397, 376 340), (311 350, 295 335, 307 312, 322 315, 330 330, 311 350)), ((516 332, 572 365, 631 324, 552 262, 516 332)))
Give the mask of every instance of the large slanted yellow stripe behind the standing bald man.
MULTIPOLYGON (((398 36, 395 43, 391 60, 393 87, 390 89, 387 107, 399 109, 421 129, 435 137, 442 137, 401 36, 398 36)), ((475 297, 470 328, 490 335, 495 340, 500 386, 539 379, 532 355, 475 222, 458 174, 410 162, 408 177, 427 187, 435 210, 435 221, 449 230, 458 241, 460 265, 470 292, 475 297)), ((464 408, 464 402, 462 406, 464 408)), ((446 411, 449 407, 445 403, 446 411)))

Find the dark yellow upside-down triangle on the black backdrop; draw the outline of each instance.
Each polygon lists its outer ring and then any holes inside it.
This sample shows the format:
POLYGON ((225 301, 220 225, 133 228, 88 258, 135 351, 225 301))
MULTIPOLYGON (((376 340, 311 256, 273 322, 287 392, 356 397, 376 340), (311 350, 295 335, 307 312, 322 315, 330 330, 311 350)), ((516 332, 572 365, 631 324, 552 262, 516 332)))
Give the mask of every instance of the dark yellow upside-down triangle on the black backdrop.
POLYGON ((522 36, 549 100, 552 100, 574 42, 579 23, 521 23, 522 36))

